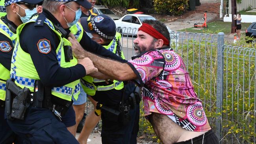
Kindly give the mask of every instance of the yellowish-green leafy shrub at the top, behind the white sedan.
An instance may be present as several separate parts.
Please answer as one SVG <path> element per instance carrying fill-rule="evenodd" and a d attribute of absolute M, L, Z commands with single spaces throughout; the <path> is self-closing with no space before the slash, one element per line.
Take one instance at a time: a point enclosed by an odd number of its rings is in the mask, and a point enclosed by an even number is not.
<path fill-rule="evenodd" d="M 158 13 L 181 15 L 188 7 L 189 0 L 154 0 L 154 9 Z"/>

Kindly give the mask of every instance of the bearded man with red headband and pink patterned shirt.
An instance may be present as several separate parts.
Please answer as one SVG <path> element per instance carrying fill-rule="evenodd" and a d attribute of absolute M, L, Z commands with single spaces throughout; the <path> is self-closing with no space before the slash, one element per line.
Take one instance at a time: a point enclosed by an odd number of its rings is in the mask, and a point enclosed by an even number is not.
<path fill-rule="evenodd" d="M 137 56 L 127 63 L 98 57 L 69 40 L 76 57 L 89 57 L 105 78 L 134 80 L 141 87 L 145 116 L 163 144 L 219 144 L 163 23 L 144 21 L 134 40 Z"/>

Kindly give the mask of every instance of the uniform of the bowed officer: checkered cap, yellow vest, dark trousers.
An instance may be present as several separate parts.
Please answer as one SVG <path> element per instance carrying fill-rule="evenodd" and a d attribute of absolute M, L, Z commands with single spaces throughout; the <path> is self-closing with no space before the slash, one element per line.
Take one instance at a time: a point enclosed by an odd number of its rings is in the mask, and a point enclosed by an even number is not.
<path fill-rule="evenodd" d="M 116 32 L 115 23 L 106 15 L 97 15 L 96 17 L 81 18 L 80 20 L 84 30 L 89 37 L 93 37 L 91 33 L 97 33 L 105 39 L 113 39 L 109 44 L 105 44 L 104 48 L 125 59 L 120 44 L 121 34 Z M 84 91 L 91 96 L 99 104 L 105 105 L 110 109 L 119 111 L 120 102 L 122 101 L 124 92 L 124 83 L 114 80 L 108 81 L 85 76 L 81 79 Z M 134 87 L 134 85 L 126 85 L 126 87 Z M 127 88 L 129 93 L 129 89 Z M 124 96 L 127 100 L 128 96 Z M 102 118 L 102 144 L 136 144 L 139 123 L 139 105 L 134 109 L 130 109 L 130 122 L 121 124 L 118 119 L 112 118 L 109 112 L 101 109 Z M 134 126 L 137 127 L 134 127 Z"/>

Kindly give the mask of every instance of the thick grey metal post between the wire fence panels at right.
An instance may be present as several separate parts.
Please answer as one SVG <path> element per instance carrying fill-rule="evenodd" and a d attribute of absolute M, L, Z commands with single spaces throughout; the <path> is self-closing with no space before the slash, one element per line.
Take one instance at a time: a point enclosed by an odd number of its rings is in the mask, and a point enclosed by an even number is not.
<path fill-rule="evenodd" d="M 216 100 L 216 113 L 221 113 L 223 105 L 223 45 L 224 45 L 224 33 L 218 33 L 218 48 L 217 48 L 217 100 Z M 219 140 L 222 138 L 222 114 L 216 118 L 216 135 Z M 221 142 L 222 143 L 222 142 Z"/>

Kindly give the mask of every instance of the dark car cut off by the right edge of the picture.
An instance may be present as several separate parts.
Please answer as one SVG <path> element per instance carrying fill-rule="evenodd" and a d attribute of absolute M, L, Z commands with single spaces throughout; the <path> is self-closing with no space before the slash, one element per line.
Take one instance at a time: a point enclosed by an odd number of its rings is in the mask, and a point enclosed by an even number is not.
<path fill-rule="evenodd" d="M 252 22 L 252 24 L 245 30 L 245 41 L 247 43 L 256 44 L 256 22 Z M 248 39 L 251 37 L 252 39 Z"/>

